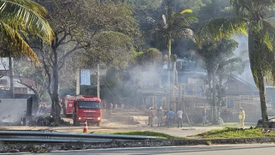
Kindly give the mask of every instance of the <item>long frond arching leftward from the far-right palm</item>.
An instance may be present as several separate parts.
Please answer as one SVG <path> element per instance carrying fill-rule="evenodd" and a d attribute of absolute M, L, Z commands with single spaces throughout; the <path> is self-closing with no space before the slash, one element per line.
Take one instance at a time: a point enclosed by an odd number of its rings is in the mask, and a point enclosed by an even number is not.
<path fill-rule="evenodd" d="M 246 18 L 216 18 L 209 20 L 197 32 L 197 44 L 200 45 L 201 38 L 217 41 L 221 38 L 231 37 L 234 34 L 247 35 L 248 22 L 249 20 Z"/>

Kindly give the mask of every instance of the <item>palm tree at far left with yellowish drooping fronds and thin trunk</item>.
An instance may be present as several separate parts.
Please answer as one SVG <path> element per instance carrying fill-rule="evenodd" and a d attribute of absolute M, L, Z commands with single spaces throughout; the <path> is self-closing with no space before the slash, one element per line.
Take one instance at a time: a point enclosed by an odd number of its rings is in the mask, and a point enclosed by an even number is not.
<path fill-rule="evenodd" d="M 30 0 L 0 0 L 0 42 L 6 46 L 2 56 L 9 57 L 11 92 L 13 92 L 12 56 L 25 55 L 37 62 L 38 58 L 32 48 L 22 37 L 23 33 L 37 35 L 51 42 L 53 31 L 47 20 L 47 10 Z"/>

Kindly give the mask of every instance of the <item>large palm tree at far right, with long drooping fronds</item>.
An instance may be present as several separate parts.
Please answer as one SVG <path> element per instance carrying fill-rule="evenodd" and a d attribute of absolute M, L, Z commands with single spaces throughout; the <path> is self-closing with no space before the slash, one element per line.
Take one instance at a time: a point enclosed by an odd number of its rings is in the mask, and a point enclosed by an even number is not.
<path fill-rule="evenodd" d="M 209 20 L 197 33 L 197 44 L 200 38 L 219 40 L 234 34 L 248 35 L 250 68 L 259 89 L 263 128 L 267 125 L 267 105 L 264 92 L 264 77 L 274 81 L 274 37 L 275 24 L 269 13 L 274 8 L 274 0 L 228 0 L 236 17 L 216 18 Z"/>

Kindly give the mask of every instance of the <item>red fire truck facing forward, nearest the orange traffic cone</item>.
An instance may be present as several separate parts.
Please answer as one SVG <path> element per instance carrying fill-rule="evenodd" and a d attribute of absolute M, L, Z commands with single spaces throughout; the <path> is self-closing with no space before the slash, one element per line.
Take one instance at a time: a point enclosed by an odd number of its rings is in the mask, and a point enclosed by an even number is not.
<path fill-rule="evenodd" d="M 87 120 L 87 123 L 99 123 L 102 120 L 101 100 L 96 96 L 75 97 L 73 104 L 73 125 L 79 125 Z"/>

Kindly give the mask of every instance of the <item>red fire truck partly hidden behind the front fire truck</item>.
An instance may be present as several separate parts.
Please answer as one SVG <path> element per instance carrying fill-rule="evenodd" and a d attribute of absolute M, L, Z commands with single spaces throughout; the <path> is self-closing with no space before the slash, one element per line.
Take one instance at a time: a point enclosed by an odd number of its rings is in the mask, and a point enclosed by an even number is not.
<path fill-rule="evenodd" d="M 75 97 L 71 95 L 67 95 L 62 99 L 61 103 L 64 116 L 68 117 L 73 115 L 73 101 L 75 101 Z"/>

